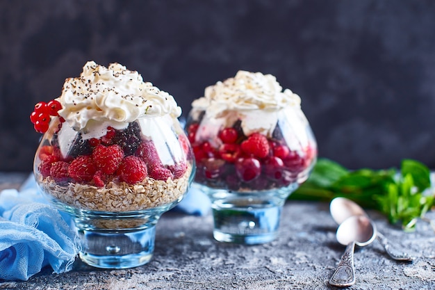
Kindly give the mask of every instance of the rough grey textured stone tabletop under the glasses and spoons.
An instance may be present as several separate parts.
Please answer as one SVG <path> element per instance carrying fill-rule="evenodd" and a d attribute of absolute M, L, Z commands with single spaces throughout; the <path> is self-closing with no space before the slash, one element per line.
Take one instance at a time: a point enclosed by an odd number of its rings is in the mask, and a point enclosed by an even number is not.
<path fill-rule="evenodd" d="M 405 233 L 369 211 L 380 232 L 409 249 L 412 263 L 388 258 L 378 241 L 356 248 L 356 284 L 350 289 L 434 289 L 435 233 L 419 221 Z M 428 218 L 435 220 L 435 213 Z M 345 248 L 335 239 L 329 204 L 287 202 L 279 239 L 263 245 L 213 240 L 213 220 L 169 212 L 157 225 L 153 259 L 126 270 L 100 270 L 77 259 L 69 273 L 50 268 L 26 282 L 0 282 L 0 289 L 334 289 L 329 277 Z"/>

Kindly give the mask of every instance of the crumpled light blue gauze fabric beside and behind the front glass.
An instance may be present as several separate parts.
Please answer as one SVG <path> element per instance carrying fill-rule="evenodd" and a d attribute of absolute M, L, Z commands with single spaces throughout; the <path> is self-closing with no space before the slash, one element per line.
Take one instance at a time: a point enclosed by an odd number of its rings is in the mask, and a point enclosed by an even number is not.
<path fill-rule="evenodd" d="M 208 198 L 192 185 L 174 211 L 204 216 Z M 0 279 L 28 280 L 44 266 L 70 271 L 80 250 L 72 218 L 48 204 L 33 175 L 16 189 L 0 192 Z"/>

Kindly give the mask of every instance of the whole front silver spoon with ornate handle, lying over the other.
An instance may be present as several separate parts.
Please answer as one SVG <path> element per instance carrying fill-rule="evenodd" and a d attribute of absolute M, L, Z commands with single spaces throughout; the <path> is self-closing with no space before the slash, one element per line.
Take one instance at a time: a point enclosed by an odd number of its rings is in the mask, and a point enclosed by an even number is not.
<path fill-rule="evenodd" d="M 376 226 L 366 216 L 351 216 L 338 226 L 337 241 L 347 246 L 329 284 L 336 287 L 347 287 L 355 283 L 355 244 L 361 247 L 368 245 L 375 240 L 375 236 Z"/>

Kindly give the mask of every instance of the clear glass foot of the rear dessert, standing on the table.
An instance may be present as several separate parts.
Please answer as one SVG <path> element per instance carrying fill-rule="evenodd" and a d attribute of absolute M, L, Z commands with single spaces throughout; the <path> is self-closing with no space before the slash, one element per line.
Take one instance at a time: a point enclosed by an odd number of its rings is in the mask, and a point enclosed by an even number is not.
<path fill-rule="evenodd" d="M 213 207 L 213 237 L 217 241 L 254 245 L 278 236 L 281 208 Z"/>

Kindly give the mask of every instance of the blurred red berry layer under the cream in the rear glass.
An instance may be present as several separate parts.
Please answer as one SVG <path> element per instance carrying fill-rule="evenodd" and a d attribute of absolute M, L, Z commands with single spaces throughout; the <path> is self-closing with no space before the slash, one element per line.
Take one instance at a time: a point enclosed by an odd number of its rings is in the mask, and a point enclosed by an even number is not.
<path fill-rule="evenodd" d="M 270 138 L 258 132 L 245 136 L 239 120 L 220 129 L 215 140 L 202 138 L 204 131 L 199 134 L 198 128 L 194 121 L 186 129 L 197 165 L 195 182 L 211 188 L 265 191 L 289 186 L 315 158 L 311 145 L 291 150 L 279 126 Z"/>

